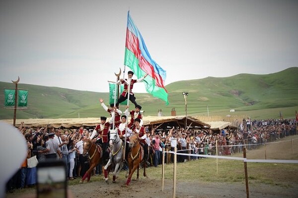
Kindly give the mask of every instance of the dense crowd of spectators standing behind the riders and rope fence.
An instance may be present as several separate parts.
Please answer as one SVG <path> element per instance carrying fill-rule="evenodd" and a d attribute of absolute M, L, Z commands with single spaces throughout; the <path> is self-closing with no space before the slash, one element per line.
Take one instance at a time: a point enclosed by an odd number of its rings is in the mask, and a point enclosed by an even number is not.
<path fill-rule="evenodd" d="M 247 122 L 247 120 L 249 120 Z M 248 124 L 247 124 L 248 123 Z M 154 126 L 155 127 L 155 126 Z M 183 128 L 150 129 L 145 126 L 149 139 L 149 166 L 157 167 L 161 164 L 162 148 L 191 154 L 229 155 L 242 150 L 255 149 L 257 145 L 273 142 L 286 136 L 297 135 L 297 121 L 295 119 L 250 120 L 243 119 L 236 128 L 213 131 L 211 129 L 185 130 Z M 89 138 L 91 131 L 83 129 L 64 130 L 48 128 L 28 128 L 21 123 L 19 131 L 27 141 L 27 158 L 37 156 L 38 161 L 46 161 L 54 156 L 64 160 L 67 164 L 69 180 L 81 177 L 88 169 L 88 161 L 82 156 L 82 140 Z M 49 145 L 55 143 L 57 148 Z M 240 147 L 239 147 L 240 145 Z M 197 160 L 201 157 L 178 155 L 177 162 Z M 165 154 L 165 163 L 173 163 L 173 155 Z M 25 159 L 18 172 L 6 184 L 6 189 L 31 187 L 36 184 L 36 167 L 28 168 Z M 94 170 L 94 174 L 101 174 L 101 165 Z"/>

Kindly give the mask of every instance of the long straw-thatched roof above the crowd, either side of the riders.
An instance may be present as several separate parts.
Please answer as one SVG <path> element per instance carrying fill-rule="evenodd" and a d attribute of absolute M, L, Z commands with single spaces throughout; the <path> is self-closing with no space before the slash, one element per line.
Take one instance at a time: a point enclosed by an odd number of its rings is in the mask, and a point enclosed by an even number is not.
<path fill-rule="evenodd" d="M 109 119 L 109 118 L 108 118 Z M 108 120 L 107 119 L 107 120 Z M 144 116 L 144 125 L 160 125 L 159 128 L 166 127 L 183 127 L 185 126 L 185 120 L 187 126 L 190 128 L 210 128 L 210 125 L 204 123 L 192 116 Z M 13 120 L 0 120 L 9 124 L 13 124 Z M 15 126 L 19 127 L 21 122 L 24 122 L 25 127 L 55 127 L 55 128 L 78 128 L 81 125 L 85 127 L 95 127 L 100 123 L 99 118 L 59 118 L 59 119 L 17 119 Z"/>

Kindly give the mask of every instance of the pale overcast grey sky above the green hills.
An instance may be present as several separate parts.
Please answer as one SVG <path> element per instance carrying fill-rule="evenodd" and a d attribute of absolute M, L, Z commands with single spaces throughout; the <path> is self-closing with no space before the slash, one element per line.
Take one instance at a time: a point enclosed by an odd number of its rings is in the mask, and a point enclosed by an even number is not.
<path fill-rule="evenodd" d="M 298 66 L 297 0 L 0 0 L 0 81 L 109 92 L 128 10 L 165 85 Z"/>

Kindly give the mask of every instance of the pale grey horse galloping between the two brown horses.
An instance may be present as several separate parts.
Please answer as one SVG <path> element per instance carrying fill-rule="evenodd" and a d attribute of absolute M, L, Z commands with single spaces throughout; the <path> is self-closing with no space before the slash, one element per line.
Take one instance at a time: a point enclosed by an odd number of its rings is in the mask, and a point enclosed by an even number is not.
<path fill-rule="evenodd" d="M 110 152 L 110 159 L 108 163 L 104 166 L 104 180 L 108 182 L 108 168 L 111 164 L 114 165 L 113 171 L 113 183 L 115 183 L 116 178 L 123 167 L 122 159 L 123 159 L 123 144 L 122 140 L 120 139 L 117 130 L 110 129 L 110 147 L 112 151 Z"/>

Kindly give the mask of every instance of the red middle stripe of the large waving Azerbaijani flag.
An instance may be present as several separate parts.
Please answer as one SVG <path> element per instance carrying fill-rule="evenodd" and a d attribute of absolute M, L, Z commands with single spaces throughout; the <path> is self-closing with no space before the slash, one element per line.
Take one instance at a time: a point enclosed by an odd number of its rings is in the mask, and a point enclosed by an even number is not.
<path fill-rule="evenodd" d="M 139 39 L 127 28 L 125 47 L 132 51 L 135 54 L 135 56 L 139 59 L 140 68 L 146 73 L 148 73 L 149 76 L 151 76 L 155 80 L 155 84 L 158 87 L 162 87 L 166 91 L 166 89 L 164 88 L 163 79 L 159 74 L 156 74 L 154 72 L 153 66 L 142 56 L 142 52 L 139 46 Z"/>

